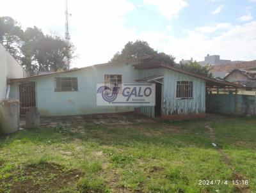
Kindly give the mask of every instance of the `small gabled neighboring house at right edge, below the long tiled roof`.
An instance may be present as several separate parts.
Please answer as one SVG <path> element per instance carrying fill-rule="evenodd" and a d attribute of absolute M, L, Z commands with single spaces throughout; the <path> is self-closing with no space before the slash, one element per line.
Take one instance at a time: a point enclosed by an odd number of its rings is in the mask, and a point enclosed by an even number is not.
<path fill-rule="evenodd" d="M 253 91 L 255 95 L 256 91 L 256 72 L 246 71 L 241 69 L 234 69 L 223 78 L 225 81 L 239 84 L 242 87 L 239 88 L 239 92 Z"/>

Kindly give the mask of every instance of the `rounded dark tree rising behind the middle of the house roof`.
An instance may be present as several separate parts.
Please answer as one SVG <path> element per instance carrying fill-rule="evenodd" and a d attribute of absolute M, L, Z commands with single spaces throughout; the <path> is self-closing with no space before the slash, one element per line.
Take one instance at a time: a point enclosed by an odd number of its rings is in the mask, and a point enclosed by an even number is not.
<path fill-rule="evenodd" d="M 143 56 L 154 56 L 158 61 L 174 65 L 174 57 L 165 54 L 164 52 L 157 52 L 145 41 L 136 40 L 136 42 L 128 42 L 125 44 L 122 52 L 116 52 L 111 61 L 120 61 L 122 59 L 135 59 Z"/>

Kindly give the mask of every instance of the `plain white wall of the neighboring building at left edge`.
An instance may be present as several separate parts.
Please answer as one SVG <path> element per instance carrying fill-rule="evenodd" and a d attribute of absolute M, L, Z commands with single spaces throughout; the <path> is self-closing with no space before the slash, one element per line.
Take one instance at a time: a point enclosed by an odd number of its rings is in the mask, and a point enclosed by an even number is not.
<path fill-rule="evenodd" d="M 0 43 L 0 101 L 8 98 L 8 79 L 26 77 L 26 71 Z"/>

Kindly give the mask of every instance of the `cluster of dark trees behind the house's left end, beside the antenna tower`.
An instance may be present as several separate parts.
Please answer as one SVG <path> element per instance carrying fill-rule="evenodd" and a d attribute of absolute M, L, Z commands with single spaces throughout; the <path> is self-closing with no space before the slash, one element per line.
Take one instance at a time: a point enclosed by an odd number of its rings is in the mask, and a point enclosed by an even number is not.
<path fill-rule="evenodd" d="M 0 42 L 31 75 L 67 70 L 67 58 L 74 57 L 74 46 L 59 36 L 44 35 L 36 26 L 23 31 L 11 17 L 0 17 Z"/>

